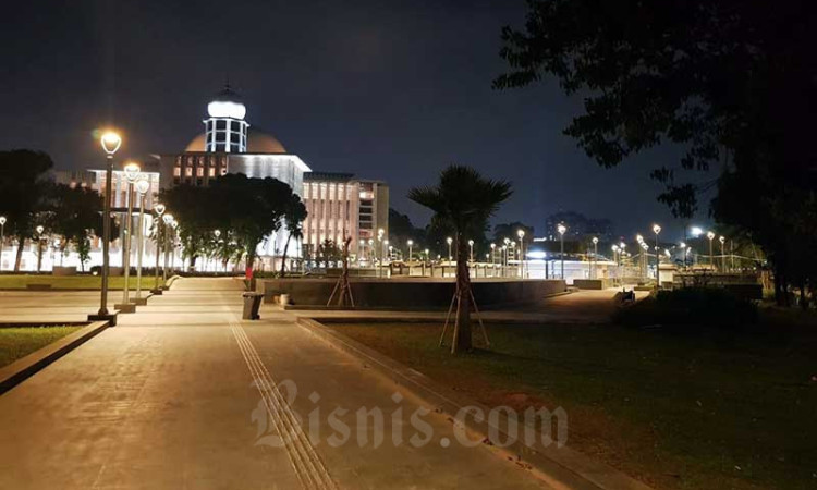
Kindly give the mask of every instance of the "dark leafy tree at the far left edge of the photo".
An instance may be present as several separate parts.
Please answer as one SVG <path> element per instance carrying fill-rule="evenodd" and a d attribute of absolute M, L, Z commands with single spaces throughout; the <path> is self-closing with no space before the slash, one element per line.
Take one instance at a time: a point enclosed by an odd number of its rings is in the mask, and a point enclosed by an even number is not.
<path fill-rule="evenodd" d="M 35 217 L 46 206 L 52 167 L 51 157 L 44 151 L 0 151 L 0 212 L 8 218 L 7 235 L 17 240 L 14 272 L 20 271 L 26 238 L 35 237 Z"/>

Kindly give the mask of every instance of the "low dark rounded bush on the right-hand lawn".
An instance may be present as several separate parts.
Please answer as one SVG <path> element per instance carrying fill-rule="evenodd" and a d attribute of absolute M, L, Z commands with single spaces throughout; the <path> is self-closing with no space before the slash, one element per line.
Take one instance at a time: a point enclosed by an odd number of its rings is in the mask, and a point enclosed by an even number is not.
<path fill-rule="evenodd" d="M 735 329 L 757 322 L 757 306 L 727 290 L 684 287 L 659 291 L 629 307 L 620 308 L 613 321 L 644 327 L 653 324 Z"/>

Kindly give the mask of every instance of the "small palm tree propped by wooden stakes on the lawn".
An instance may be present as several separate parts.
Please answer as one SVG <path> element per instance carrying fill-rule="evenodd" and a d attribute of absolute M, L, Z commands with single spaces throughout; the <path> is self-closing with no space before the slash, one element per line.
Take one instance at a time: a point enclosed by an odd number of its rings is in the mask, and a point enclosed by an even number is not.
<path fill-rule="evenodd" d="M 456 236 L 456 319 L 451 353 L 467 351 L 471 341 L 471 277 L 468 238 L 483 236 L 488 219 L 513 192 L 507 181 L 483 177 L 470 167 L 450 166 L 434 187 L 415 187 L 408 198 L 434 211 L 431 221 Z"/>

